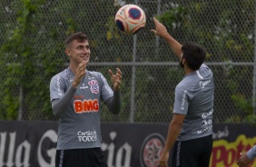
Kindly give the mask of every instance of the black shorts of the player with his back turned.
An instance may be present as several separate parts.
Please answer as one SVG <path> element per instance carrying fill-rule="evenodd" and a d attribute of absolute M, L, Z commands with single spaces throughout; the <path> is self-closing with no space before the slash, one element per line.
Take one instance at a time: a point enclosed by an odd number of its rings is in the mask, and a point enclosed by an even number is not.
<path fill-rule="evenodd" d="M 176 141 L 170 151 L 169 167 L 208 167 L 212 142 L 212 135 L 189 141 Z"/>

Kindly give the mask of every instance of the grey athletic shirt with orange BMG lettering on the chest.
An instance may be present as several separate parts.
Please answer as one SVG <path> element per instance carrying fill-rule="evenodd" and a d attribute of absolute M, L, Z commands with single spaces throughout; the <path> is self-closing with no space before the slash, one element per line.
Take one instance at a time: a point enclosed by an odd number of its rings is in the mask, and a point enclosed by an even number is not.
<path fill-rule="evenodd" d="M 50 83 L 51 101 L 60 99 L 74 81 L 70 68 L 54 75 Z M 103 74 L 86 70 L 73 99 L 58 121 L 57 150 L 101 147 L 100 100 L 113 97 Z"/>

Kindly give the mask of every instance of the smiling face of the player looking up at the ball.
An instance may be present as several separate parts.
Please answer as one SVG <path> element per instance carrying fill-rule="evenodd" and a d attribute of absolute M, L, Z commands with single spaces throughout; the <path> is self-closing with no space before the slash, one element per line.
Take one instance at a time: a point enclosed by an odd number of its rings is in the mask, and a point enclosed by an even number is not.
<path fill-rule="evenodd" d="M 68 55 L 70 56 L 70 61 L 75 64 L 80 64 L 83 61 L 89 62 L 90 59 L 90 45 L 87 40 L 82 43 L 79 43 L 77 40 L 74 40 L 70 46 L 67 48 Z"/>

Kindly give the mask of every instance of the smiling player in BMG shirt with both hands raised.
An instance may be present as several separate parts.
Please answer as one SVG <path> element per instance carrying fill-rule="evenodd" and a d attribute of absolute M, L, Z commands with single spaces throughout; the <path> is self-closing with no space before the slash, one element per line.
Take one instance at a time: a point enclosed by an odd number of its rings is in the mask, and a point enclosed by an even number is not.
<path fill-rule="evenodd" d="M 53 112 L 59 117 L 55 166 L 107 167 L 101 150 L 100 101 L 110 112 L 120 112 L 122 72 L 108 71 L 112 90 L 103 74 L 86 69 L 91 50 L 85 34 L 70 35 L 65 47 L 69 66 L 50 83 Z"/>

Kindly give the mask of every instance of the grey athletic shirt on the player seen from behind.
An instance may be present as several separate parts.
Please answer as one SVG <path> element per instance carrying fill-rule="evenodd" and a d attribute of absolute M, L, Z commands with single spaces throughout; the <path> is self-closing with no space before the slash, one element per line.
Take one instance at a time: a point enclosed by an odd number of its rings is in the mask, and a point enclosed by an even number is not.
<path fill-rule="evenodd" d="M 202 64 L 186 74 L 175 88 L 173 113 L 185 115 L 177 141 L 187 141 L 212 134 L 214 83 L 212 70 Z"/>

